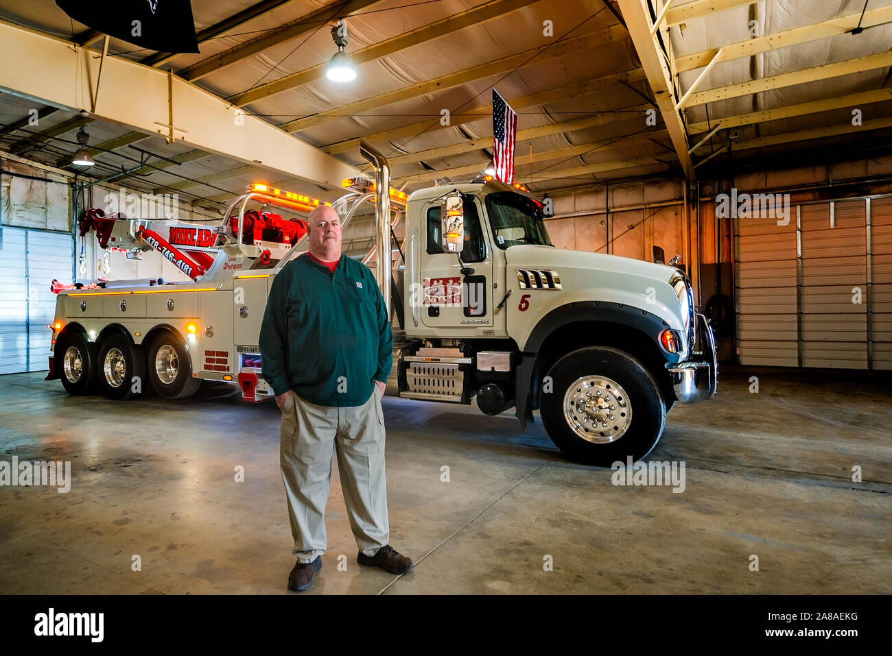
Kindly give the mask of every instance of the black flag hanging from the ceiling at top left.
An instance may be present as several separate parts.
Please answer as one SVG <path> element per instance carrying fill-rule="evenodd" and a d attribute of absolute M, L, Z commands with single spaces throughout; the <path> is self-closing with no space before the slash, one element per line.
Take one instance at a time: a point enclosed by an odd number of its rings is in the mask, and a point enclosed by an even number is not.
<path fill-rule="evenodd" d="M 75 21 L 146 50 L 197 53 L 189 0 L 56 0 Z"/>

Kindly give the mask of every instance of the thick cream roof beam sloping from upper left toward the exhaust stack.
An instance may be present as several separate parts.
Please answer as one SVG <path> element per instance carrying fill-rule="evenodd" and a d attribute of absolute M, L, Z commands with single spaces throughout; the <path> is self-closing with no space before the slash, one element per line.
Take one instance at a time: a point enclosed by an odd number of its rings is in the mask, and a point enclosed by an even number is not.
<path fill-rule="evenodd" d="M 340 189 L 343 178 L 358 173 L 218 96 L 136 61 L 106 58 L 97 95 L 100 61 L 94 51 L 4 22 L 0 22 L 0 61 L 15 61 L 14 66 L 0 67 L 0 88 L 75 111 L 86 111 L 97 99 L 89 119 L 148 135 L 172 134 L 177 143 L 199 151 L 328 189 Z M 138 102 L 121 102 L 132 101 L 134 94 Z"/>

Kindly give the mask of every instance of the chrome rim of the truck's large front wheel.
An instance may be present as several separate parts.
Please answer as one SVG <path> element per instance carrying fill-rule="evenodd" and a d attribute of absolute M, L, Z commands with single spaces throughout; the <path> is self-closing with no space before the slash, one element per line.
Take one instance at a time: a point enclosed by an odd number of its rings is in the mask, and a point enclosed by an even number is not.
<path fill-rule="evenodd" d="M 609 444 L 622 438 L 632 425 L 632 404 L 616 381 L 582 376 L 564 394 L 564 419 L 585 441 Z"/>

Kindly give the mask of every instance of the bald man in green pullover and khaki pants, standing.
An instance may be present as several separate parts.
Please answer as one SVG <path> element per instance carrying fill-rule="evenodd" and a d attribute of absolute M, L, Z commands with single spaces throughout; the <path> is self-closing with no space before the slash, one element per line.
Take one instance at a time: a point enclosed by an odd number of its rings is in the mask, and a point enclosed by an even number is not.
<path fill-rule="evenodd" d="M 381 398 L 393 336 L 368 267 L 341 253 L 341 220 L 329 206 L 309 217 L 309 252 L 276 275 L 260 328 L 263 377 L 282 411 L 280 463 L 301 592 L 322 568 L 332 453 L 337 453 L 357 561 L 392 574 L 412 569 L 388 544 Z"/>

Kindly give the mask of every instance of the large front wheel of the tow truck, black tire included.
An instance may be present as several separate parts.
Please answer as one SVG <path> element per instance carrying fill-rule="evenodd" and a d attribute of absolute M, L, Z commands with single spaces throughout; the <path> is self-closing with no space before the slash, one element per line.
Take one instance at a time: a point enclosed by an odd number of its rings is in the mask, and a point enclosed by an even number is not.
<path fill-rule="evenodd" d="M 549 370 L 542 423 L 551 441 L 577 462 L 609 467 L 637 462 L 663 435 L 665 402 L 638 360 L 616 348 L 580 348 Z M 595 421 L 597 420 L 597 421 Z"/>

